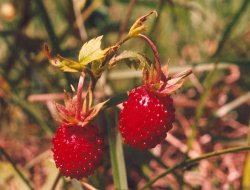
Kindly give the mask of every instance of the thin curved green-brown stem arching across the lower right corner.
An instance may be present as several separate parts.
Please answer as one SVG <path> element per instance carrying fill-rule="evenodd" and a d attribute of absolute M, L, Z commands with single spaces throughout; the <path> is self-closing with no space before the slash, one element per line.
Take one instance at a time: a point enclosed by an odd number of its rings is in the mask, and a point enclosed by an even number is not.
<path fill-rule="evenodd" d="M 211 157 L 215 157 L 215 156 L 219 156 L 219 155 L 226 154 L 226 153 L 231 153 L 231 152 L 244 151 L 244 150 L 250 150 L 250 146 L 227 148 L 227 149 L 223 149 L 223 150 L 219 150 L 219 151 L 215 151 L 215 152 L 210 152 L 210 153 L 204 154 L 204 155 L 202 155 L 200 157 L 197 157 L 197 158 L 184 160 L 181 163 L 175 165 L 174 167 L 167 169 L 165 172 L 158 175 L 153 180 L 149 181 L 141 190 L 144 190 L 144 189 L 147 189 L 147 188 L 151 187 L 157 180 L 165 177 L 167 174 L 173 172 L 174 170 L 184 168 L 184 167 L 186 167 L 186 166 L 188 166 L 190 164 L 194 164 L 194 163 L 196 163 L 196 162 L 198 162 L 200 160 L 204 160 L 204 159 L 207 159 L 207 158 L 211 158 Z"/>

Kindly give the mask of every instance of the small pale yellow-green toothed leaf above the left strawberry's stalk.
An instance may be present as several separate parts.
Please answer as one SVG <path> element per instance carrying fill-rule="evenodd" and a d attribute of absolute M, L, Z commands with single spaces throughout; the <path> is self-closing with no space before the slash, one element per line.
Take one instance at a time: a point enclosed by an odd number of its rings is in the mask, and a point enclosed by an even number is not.
<path fill-rule="evenodd" d="M 83 44 L 79 52 L 79 62 L 82 66 L 100 60 L 105 56 L 109 48 L 101 49 L 102 37 L 103 36 L 99 36 Z"/>

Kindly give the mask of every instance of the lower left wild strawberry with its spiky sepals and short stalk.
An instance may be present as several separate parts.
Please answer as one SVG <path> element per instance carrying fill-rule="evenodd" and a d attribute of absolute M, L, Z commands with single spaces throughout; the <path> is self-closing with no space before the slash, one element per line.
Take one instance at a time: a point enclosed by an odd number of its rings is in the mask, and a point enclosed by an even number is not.
<path fill-rule="evenodd" d="M 55 104 L 61 125 L 52 140 L 56 167 L 64 176 L 76 179 L 93 173 L 104 152 L 104 140 L 97 126 L 90 124 L 104 103 L 90 109 L 92 96 L 87 95 L 85 102 L 82 99 L 83 80 L 81 76 L 76 96 L 65 92 L 65 107 Z"/>

